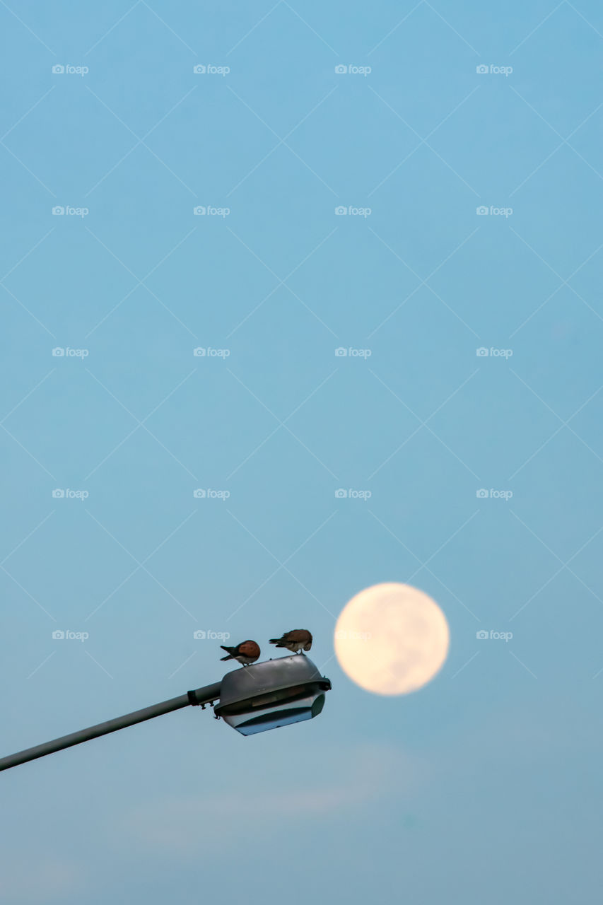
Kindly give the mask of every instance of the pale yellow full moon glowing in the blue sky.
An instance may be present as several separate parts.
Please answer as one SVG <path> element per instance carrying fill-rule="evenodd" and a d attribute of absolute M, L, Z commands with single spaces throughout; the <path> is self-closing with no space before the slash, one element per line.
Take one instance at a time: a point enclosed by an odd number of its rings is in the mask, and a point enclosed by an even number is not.
<path fill-rule="evenodd" d="M 388 583 L 360 591 L 335 626 L 335 653 L 352 681 L 376 694 L 407 694 L 443 666 L 450 633 L 445 615 L 410 585 Z"/>

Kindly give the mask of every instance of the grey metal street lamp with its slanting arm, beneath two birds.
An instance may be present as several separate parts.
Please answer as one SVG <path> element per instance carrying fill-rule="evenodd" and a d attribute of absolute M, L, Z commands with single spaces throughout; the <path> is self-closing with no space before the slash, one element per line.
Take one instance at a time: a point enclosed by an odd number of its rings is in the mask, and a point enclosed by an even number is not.
<path fill-rule="evenodd" d="M 188 705 L 206 709 L 214 707 L 216 718 L 222 717 L 242 735 L 254 735 L 267 729 L 289 726 L 302 719 L 317 717 L 324 706 L 324 695 L 330 690 L 330 680 L 304 654 L 297 653 L 277 660 L 254 663 L 240 670 L 227 672 L 222 681 L 196 691 L 187 691 L 177 698 L 134 710 L 123 717 L 108 719 L 88 729 L 55 738 L 35 748 L 26 748 L 8 757 L 0 757 L 0 770 L 16 767 L 28 760 L 71 748 L 82 741 L 108 735 L 146 719 L 160 717 Z M 215 701 L 217 703 L 215 703 Z"/>

